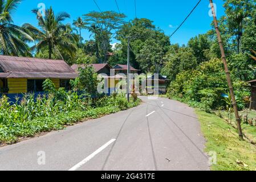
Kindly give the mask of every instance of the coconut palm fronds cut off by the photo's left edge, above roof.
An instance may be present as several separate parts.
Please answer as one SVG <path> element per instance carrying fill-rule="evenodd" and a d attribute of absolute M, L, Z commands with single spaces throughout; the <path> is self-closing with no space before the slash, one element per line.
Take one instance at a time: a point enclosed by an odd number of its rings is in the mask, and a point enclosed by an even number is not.
<path fill-rule="evenodd" d="M 13 24 L 11 13 L 17 9 L 21 0 L 0 0 L 0 54 L 29 55 L 26 42 L 32 42 L 32 37 L 25 28 Z"/>

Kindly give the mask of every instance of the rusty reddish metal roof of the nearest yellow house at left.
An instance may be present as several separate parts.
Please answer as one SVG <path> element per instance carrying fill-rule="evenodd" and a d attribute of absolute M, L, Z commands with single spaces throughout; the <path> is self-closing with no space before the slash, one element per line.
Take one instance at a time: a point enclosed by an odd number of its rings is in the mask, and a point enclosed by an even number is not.
<path fill-rule="evenodd" d="M 0 55 L 2 78 L 76 78 L 78 75 L 64 60 Z"/>

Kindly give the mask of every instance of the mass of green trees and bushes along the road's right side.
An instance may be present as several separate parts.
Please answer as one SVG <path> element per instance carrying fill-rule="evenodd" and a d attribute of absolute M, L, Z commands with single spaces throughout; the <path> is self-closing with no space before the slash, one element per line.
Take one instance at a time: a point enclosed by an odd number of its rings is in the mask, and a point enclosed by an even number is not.
<path fill-rule="evenodd" d="M 250 53 L 256 49 L 253 28 L 256 23 L 255 1 L 226 0 L 224 7 L 226 15 L 221 17 L 219 28 L 238 108 L 241 110 L 246 106 L 244 98 L 250 96 L 246 81 L 256 78 L 256 62 Z M 206 111 L 231 111 L 229 88 L 220 57 L 214 27 L 206 34 L 190 39 L 188 46 L 170 46 L 161 71 L 170 81 L 168 96 Z"/>

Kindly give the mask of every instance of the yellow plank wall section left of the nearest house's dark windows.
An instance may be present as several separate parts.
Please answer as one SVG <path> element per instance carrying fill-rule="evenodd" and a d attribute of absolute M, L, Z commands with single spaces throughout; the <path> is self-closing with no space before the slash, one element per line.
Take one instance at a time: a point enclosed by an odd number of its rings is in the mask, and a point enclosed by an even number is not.
<path fill-rule="evenodd" d="M 26 93 L 27 78 L 8 78 L 8 93 Z"/>

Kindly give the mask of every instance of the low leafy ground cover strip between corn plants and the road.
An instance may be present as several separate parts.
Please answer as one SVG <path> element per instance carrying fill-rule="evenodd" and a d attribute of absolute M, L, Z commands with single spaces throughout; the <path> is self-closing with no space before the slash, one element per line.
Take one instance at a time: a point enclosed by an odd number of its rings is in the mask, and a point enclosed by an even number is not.
<path fill-rule="evenodd" d="M 108 105 L 90 108 L 88 110 L 60 112 L 54 116 L 51 115 L 51 117 L 39 117 L 26 122 L 9 122 L 6 125 L 0 123 L 0 146 L 17 143 L 24 138 L 34 137 L 39 133 L 62 130 L 67 126 L 87 121 L 88 119 L 100 118 L 104 115 L 117 113 L 120 110 L 138 106 L 140 102 L 141 100 L 137 99 L 136 101 L 127 102 L 127 105 L 119 103 L 116 106 Z"/>

